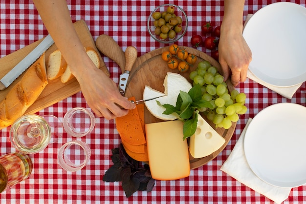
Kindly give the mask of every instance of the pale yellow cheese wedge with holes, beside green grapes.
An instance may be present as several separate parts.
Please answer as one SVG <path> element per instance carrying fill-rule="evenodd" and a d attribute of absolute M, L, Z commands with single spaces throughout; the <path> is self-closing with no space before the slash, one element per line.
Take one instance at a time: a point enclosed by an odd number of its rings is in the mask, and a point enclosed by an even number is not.
<path fill-rule="evenodd" d="M 206 157 L 217 151 L 224 143 L 225 139 L 198 114 L 196 133 L 189 138 L 190 154 L 194 158 Z"/>

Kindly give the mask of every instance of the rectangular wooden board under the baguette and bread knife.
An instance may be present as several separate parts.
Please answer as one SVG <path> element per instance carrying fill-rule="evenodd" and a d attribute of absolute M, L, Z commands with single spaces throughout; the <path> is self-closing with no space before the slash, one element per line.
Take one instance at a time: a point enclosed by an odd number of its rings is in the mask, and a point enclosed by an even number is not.
<path fill-rule="evenodd" d="M 100 52 L 97 50 L 95 46 L 95 42 L 89 32 L 88 26 L 84 20 L 79 20 L 74 23 L 75 30 L 83 43 L 84 47 L 91 47 L 96 50 L 97 54 L 100 58 L 100 69 L 105 72 L 106 75 L 109 76 L 109 70 L 107 69 Z M 23 47 L 16 52 L 13 52 L 3 58 L 0 59 L 0 79 L 9 72 L 19 61 L 21 61 L 29 52 L 31 52 L 43 39 L 33 42 L 32 44 Z M 57 49 L 57 46 L 53 44 L 46 52 L 45 52 L 45 60 L 47 61 L 48 56 Z M 71 50 L 73 52 L 73 50 Z M 24 73 L 23 73 L 24 74 Z M 5 90 L 0 91 L 0 101 L 2 101 L 6 94 L 10 91 L 10 89 L 21 80 L 23 74 L 16 79 L 9 87 Z M 69 82 L 62 83 L 60 78 L 55 80 L 49 80 L 48 85 L 44 88 L 44 91 L 39 96 L 36 102 L 34 102 L 25 112 L 25 114 L 34 114 L 54 103 L 60 102 L 63 99 L 79 92 L 81 90 L 80 84 L 74 78 Z"/>

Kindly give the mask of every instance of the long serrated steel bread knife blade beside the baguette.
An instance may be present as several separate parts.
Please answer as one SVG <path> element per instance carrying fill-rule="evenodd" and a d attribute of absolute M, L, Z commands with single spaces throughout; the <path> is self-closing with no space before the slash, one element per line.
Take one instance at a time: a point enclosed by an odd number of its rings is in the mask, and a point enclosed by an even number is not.
<path fill-rule="evenodd" d="M 0 90 L 6 89 L 14 82 L 27 68 L 29 68 L 43 53 L 54 43 L 50 34 L 41 41 L 25 58 L 0 79 Z"/>

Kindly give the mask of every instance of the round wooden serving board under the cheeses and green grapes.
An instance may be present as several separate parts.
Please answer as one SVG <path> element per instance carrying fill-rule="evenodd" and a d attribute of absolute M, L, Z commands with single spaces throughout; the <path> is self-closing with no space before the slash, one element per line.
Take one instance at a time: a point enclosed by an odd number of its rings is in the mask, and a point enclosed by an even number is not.
<path fill-rule="evenodd" d="M 207 54 L 190 47 L 186 47 L 185 49 L 188 51 L 188 53 L 197 55 L 197 62 L 194 64 L 194 66 L 191 66 L 190 70 L 185 73 L 181 73 L 177 69 L 175 70 L 170 69 L 168 68 L 167 62 L 161 59 L 161 54 L 168 49 L 169 47 L 159 48 L 137 58 L 130 73 L 125 93 L 126 97 L 134 96 L 136 100 L 143 99 L 142 95 L 145 85 L 149 85 L 155 90 L 164 92 L 163 82 L 168 72 L 180 73 L 189 82 L 192 83 L 192 81 L 189 79 L 189 74 L 191 71 L 197 69 L 197 63 L 200 61 L 204 60 L 209 61 L 213 66 L 218 68 L 219 72 L 221 70 L 219 62 L 217 62 Z M 234 89 L 234 86 L 230 81 L 227 81 L 227 85 L 230 91 Z M 203 117 L 205 119 L 205 116 Z M 149 112 L 149 110 L 145 108 L 145 123 L 153 123 L 153 122 L 162 122 L 162 120 L 155 118 Z M 215 127 L 215 124 L 213 124 L 210 121 L 208 122 L 211 124 L 212 127 Z M 202 166 L 208 163 L 209 161 L 213 160 L 215 157 L 217 157 L 218 154 L 225 148 L 227 143 L 232 138 L 235 128 L 236 128 L 236 122 L 233 123 L 233 125 L 228 130 L 225 130 L 224 128 L 215 128 L 216 131 L 225 139 L 225 143 L 217 151 L 203 158 L 195 159 L 189 154 L 190 168 L 194 169 L 199 166 Z"/>

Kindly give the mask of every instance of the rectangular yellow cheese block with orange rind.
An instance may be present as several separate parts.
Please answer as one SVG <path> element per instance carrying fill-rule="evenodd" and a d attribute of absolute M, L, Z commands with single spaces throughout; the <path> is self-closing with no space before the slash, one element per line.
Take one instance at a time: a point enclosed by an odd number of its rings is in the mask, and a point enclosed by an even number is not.
<path fill-rule="evenodd" d="M 152 178 L 167 181 L 188 177 L 190 164 L 183 122 L 149 123 L 145 130 Z"/>

